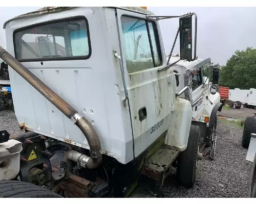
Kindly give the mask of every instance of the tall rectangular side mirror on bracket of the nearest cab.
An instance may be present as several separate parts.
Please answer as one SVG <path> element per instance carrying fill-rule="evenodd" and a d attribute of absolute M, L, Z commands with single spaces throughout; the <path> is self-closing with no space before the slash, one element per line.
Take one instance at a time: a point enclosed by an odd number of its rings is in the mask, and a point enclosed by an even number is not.
<path fill-rule="evenodd" d="M 195 47 L 192 48 L 192 16 L 195 15 Z M 197 48 L 197 14 L 191 13 L 180 18 L 180 59 L 194 61 Z"/>

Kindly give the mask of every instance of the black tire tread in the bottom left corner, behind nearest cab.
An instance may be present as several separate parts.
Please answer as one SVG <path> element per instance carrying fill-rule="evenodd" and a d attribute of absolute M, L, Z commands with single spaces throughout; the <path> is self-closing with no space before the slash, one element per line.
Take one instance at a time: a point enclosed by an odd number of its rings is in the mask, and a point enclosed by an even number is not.
<path fill-rule="evenodd" d="M 0 198 L 61 198 L 45 188 L 19 181 L 1 181 Z"/>

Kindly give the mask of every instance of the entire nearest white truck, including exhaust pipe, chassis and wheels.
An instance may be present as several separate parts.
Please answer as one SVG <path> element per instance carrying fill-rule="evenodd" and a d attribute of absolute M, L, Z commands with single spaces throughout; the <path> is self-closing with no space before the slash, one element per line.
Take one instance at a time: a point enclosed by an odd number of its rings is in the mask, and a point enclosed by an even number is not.
<path fill-rule="evenodd" d="M 25 132 L 0 133 L 0 189 L 10 189 L 0 196 L 160 197 L 173 167 L 181 185 L 195 184 L 199 146 L 215 139 L 205 135 L 215 133 L 222 105 L 216 83 L 193 89 L 186 81 L 194 66 L 177 90 L 177 62 L 166 61 L 158 24 L 174 17 L 177 61 L 193 63 L 195 13 L 46 7 L 5 22 L 8 52 L 0 47 L 0 57 Z M 211 105 L 201 113 L 204 98 Z"/>

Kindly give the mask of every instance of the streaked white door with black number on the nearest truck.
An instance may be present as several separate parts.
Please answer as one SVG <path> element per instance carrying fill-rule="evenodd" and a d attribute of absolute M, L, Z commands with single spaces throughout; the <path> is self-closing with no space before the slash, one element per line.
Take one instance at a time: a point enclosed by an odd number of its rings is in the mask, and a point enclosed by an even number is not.
<path fill-rule="evenodd" d="M 168 129 L 176 81 L 172 69 L 158 72 L 166 60 L 156 21 L 145 14 L 116 12 L 137 157 Z"/>

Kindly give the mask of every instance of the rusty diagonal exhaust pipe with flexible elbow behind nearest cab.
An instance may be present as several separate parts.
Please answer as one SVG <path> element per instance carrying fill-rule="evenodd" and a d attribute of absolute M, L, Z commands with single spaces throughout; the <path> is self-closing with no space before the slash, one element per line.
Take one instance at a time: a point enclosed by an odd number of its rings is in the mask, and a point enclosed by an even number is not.
<path fill-rule="evenodd" d="M 12 57 L 2 46 L 0 46 L 0 58 L 2 58 L 12 69 L 14 69 L 23 79 L 33 86 L 39 93 L 45 96 L 57 109 L 71 119 L 82 131 L 90 146 L 90 158 L 87 160 L 88 168 L 96 168 L 102 162 L 100 152 L 101 145 L 99 137 L 92 124 L 81 116 L 65 100 L 58 96 L 46 84 L 39 80 L 31 71 L 23 66 L 18 60 Z"/>

